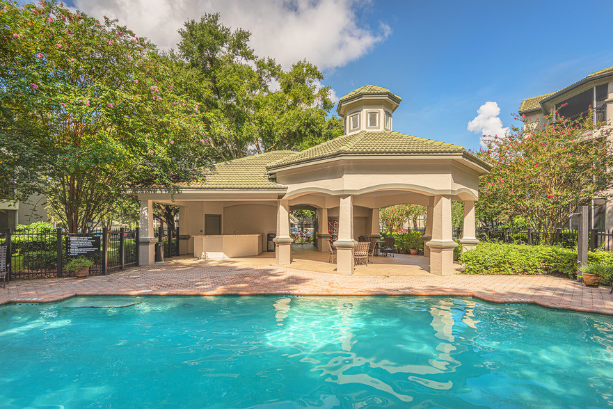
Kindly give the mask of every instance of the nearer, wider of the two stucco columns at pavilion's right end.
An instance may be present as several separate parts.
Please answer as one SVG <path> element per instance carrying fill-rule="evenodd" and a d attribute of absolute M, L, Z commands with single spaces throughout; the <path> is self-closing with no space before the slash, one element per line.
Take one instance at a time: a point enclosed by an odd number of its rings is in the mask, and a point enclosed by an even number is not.
<path fill-rule="evenodd" d="M 432 239 L 426 244 L 430 247 L 430 273 L 453 274 L 454 248 L 458 243 L 452 236 L 452 201 L 449 196 L 434 196 Z"/>

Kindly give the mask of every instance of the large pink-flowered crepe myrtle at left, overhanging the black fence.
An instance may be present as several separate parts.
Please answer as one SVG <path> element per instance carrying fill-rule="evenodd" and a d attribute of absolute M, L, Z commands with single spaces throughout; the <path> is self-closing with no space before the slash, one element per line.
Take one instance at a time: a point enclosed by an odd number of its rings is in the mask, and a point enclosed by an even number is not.
<path fill-rule="evenodd" d="M 0 104 L 35 152 L 49 207 L 70 232 L 143 181 L 190 177 L 207 143 L 198 103 L 173 92 L 145 38 L 62 3 L 0 2 Z"/>

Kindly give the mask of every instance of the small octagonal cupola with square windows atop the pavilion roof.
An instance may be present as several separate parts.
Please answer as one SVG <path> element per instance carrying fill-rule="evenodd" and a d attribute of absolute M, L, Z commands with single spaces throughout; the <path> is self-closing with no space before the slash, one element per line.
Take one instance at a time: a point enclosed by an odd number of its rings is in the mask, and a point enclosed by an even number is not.
<path fill-rule="evenodd" d="M 387 88 L 367 85 L 338 101 L 337 113 L 344 119 L 344 134 L 360 131 L 392 131 L 392 113 L 401 98 Z"/>

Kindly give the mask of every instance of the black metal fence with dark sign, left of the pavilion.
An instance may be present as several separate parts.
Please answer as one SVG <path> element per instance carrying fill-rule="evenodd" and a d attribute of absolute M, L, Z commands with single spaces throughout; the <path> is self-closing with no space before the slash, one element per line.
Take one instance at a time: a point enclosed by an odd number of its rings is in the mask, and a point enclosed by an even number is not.
<path fill-rule="evenodd" d="M 122 270 L 138 265 L 138 245 L 138 228 L 105 227 L 89 233 L 67 233 L 62 229 L 0 232 L 0 246 L 7 249 L 4 266 L 8 280 L 74 275 L 66 265 L 76 257 L 86 257 L 94 263 L 89 268 L 91 275 Z"/>

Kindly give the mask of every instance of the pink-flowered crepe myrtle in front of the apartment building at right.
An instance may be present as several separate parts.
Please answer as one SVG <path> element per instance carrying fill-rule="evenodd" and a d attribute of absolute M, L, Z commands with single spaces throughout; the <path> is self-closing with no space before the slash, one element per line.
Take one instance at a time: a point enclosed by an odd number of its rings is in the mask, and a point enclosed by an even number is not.
<path fill-rule="evenodd" d="M 481 177 L 479 202 L 523 216 L 533 229 L 554 233 L 578 206 L 610 197 L 613 187 L 611 129 L 594 125 L 594 112 L 568 119 L 557 112 L 488 138 L 478 153 L 493 164 Z M 548 241 L 553 234 L 547 234 Z"/>

